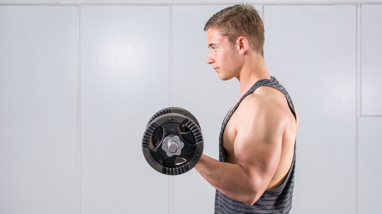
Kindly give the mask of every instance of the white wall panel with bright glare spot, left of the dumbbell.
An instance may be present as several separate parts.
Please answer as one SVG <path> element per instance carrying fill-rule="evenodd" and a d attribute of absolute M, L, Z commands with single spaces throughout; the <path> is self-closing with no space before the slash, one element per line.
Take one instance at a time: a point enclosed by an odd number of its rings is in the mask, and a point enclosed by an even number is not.
<path fill-rule="evenodd" d="M 149 15 L 148 15 L 149 14 Z M 169 102 L 169 7 L 81 7 L 81 213 L 168 213 L 142 136 Z"/>

